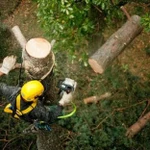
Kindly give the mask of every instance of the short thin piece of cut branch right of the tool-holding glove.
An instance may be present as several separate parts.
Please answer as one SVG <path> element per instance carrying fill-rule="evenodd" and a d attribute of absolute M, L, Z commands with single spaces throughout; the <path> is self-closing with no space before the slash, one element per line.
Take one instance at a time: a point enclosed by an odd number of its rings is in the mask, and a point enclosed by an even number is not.
<path fill-rule="evenodd" d="M 84 101 L 84 104 L 97 103 L 99 100 L 108 98 L 110 96 L 111 96 L 111 93 L 106 92 L 105 94 L 102 94 L 101 96 L 91 96 L 91 97 L 85 98 L 83 101 Z"/>

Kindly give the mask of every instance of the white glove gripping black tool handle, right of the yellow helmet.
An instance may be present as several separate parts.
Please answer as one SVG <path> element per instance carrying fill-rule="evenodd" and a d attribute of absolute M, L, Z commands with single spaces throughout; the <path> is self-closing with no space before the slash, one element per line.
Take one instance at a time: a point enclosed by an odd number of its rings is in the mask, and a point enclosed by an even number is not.
<path fill-rule="evenodd" d="M 72 101 L 76 86 L 77 82 L 70 78 L 65 78 L 65 80 L 59 84 L 60 95 L 62 96 L 59 101 L 61 106 L 65 106 Z"/>

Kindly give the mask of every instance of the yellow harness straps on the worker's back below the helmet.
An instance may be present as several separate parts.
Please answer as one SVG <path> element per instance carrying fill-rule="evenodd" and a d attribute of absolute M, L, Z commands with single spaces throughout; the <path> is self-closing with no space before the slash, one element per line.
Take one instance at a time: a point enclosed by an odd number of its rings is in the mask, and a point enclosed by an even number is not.
<path fill-rule="evenodd" d="M 31 110 L 33 110 L 36 105 L 37 105 L 37 102 L 36 101 L 33 101 L 26 109 L 24 110 L 21 110 L 21 95 L 19 94 L 16 98 L 16 104 L 15 104 L 15 108 L 12 107 L 11 103 L 9 103 L 5 109 L 4 109 L 4 112 L 6 113 L 10 113 L 12 114 L 12 116 L 16 119 L 19 119 L 21 116 L 29 113 Z"/>

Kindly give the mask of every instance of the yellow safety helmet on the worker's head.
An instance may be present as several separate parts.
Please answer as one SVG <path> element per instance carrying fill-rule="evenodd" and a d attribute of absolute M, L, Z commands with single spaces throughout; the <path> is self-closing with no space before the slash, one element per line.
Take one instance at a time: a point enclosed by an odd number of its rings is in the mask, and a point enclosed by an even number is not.
<path fill-rule="evenodd" d="M 21 96 L 27 102 L 36 101 L 38 96 L 44 92 L 44 86 L 37 80 L 32 80 L 23 85 Z"/>

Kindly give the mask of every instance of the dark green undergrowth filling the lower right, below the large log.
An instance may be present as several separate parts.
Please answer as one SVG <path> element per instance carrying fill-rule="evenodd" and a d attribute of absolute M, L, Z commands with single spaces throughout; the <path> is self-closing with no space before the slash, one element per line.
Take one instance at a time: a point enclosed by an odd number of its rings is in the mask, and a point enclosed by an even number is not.
<path fill-rule="evenodd" d="M 113 96 L 98 104 L 80 104 L 76 115 L 59 122 L 71 133 L 66 150 L 149 149 L 149 144 L 146 144 L 149 142 L 148 127 L 133 139 L 128 139 L 125 133 L 146 107 L 145 100 L 150 98 L 150 82 L 143 82 L 129 71 L 115 66 L 90 83 L 91 88 L 99 85 L 100 92 L 111 91 Z"/>

